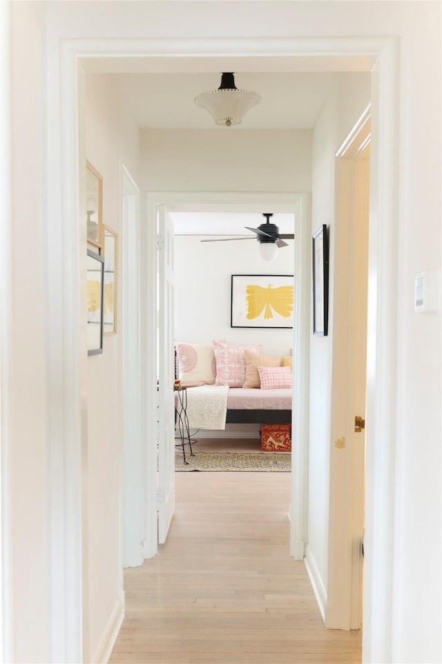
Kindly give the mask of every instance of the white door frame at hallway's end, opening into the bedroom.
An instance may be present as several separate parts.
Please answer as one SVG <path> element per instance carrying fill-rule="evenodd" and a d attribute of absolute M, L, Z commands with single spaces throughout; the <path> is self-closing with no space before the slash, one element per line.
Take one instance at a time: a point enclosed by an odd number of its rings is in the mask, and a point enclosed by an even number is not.
<path fill-rule="evenodd" d="M 273 212 L 293 212 L 295 216 L 295 298 L 294 308 L 294 396 L 292 401 L 292 422 L 294 441 L 291 454 L 291 505 L 290 515 L 290 553 L 296 560 L 303 560 L 307 543 L 307 497 L 308 497 L 308 452 L 309 452 L 309 266 L 310 266 L 310 217 L 309 195 L 304 192 L 148 192 L 146 194 L 146 245 L 145 264 L 150 266 L 146 274 L 146 293 L 148 295 L 148 320 L 155 321 L 157 316 L 157 292 L 148 288 L 156 283 L 157 275 L 157 237 L 156 219 L 158 206 L 164 205 L 168 212 L 262 212 L 271 207 Z M 152 324 L 147 334 L 148 357 L 156 357 L 156 325 Z M 151 394 L 147 394 L 146 405 L 146 484 L 157 485 L 157 449 L 155 418 L 148 417 L 154 412 L 157 376 L 155 365 L 146 364 L 147 385 Z M 150 515 L 150 517 L 149 517 Z M 157 553 L 157 496 L 149 492 L 146 506 L 146 533 L 151 540 L 146 542 L 146 553 Z M 150 519 L 150 520 L 149 520 Z M 147 537 L 146 537 L 147 539 Z"/>

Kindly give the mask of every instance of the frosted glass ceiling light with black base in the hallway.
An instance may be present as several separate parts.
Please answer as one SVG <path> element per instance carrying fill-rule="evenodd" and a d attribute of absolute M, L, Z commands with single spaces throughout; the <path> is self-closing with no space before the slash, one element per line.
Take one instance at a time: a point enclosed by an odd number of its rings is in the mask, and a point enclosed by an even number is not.
<path fill-rule="evenodd" d="M 203 92 L 195 97 L 195 104 L 209 111 L 216 124 L 224 124 L 224 127 L 240 124 L 247 111 L 260 101 L 258 93 L 238 89 L 231 72 L 222 74 L 218 90 Z"/>

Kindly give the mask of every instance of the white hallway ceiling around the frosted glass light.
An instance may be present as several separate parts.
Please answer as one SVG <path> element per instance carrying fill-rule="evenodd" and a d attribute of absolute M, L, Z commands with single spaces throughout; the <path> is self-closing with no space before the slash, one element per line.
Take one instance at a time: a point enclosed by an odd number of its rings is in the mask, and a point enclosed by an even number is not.
<path fill-rule="evenodd" d="M 237 73 L 238 88 L 257 92 L 261 102 L 237 127 L 218 127 L 193 100 L 217 89 L 220 73 L 140 73 L 119 75 L 121 93 L 135 120 L 149 129 L 312 129 L 336 73 Z"/>

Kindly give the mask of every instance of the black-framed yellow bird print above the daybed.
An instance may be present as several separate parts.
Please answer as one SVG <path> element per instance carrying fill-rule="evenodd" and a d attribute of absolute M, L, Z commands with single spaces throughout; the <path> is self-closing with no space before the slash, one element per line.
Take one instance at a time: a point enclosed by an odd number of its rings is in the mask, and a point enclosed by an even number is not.
<path fill-rule="evenodd" d="M 231 327 L 293 327 L 294 275 L 232 275 Z"/>

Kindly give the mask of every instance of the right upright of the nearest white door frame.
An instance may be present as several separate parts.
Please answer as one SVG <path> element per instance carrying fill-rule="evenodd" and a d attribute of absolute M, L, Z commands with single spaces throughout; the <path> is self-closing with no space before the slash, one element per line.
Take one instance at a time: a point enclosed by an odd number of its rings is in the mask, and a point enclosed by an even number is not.
<path fill-rule="evenodd" d="M 363 661 L 392 659 L 397 367 L 398 44 L 372 75 Z M 388 288 L 385 288 L 388 284 Z"/>

